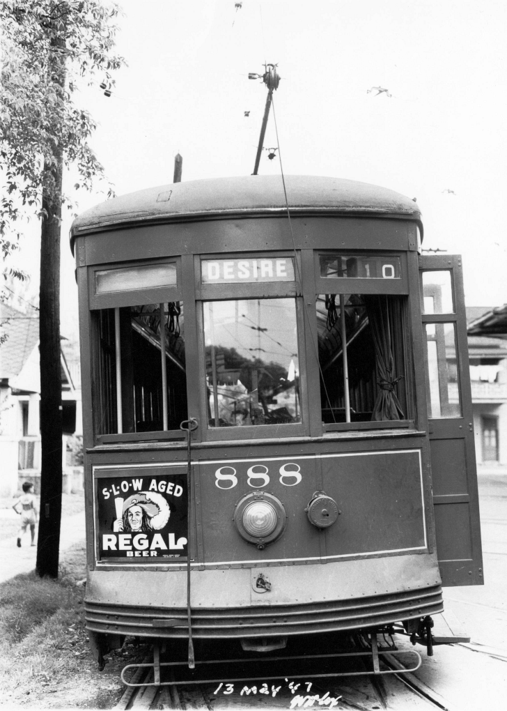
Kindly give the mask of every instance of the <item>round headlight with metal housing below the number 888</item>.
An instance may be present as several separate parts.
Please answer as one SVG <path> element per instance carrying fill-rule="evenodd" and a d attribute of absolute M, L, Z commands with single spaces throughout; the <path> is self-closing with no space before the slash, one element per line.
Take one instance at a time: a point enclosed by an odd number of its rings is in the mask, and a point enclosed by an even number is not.
<path fill-rule="evenodd" d="M 265 491 L 255 491 L 236 504 L 234 523 L 244 540 L 259 550 L 279 538 L 285 528 L 287 514 L 283 503 Z"/>

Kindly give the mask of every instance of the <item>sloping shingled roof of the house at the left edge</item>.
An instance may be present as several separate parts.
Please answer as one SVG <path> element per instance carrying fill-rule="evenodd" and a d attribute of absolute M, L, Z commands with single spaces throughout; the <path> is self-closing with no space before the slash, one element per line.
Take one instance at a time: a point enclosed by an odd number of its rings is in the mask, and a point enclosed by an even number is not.
<path fill-rule="evenodd" d="M 0 336 L 6 336 L 0 343 L 0 378 L 14 378 L 38 343 L 38 316 L 0 304 Z"/>

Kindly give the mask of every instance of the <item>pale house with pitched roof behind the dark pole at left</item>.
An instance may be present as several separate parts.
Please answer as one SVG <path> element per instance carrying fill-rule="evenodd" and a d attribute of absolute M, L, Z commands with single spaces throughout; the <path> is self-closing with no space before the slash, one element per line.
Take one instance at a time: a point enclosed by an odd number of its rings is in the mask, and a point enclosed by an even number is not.
<path fill-rule="evenodd" d="M 0 496 L 18 491 L 18 480 L 36 483 L 40 478 L 40 372 L 39 319 L 0 304 Z M 65 351 L 67 350 L 67 363 Z M 73 349 L 62 339 L 63 466 L 72 479 L 67 461 L 70 437 L 82 434 L 79 368 Z M 77 360 L 78 363 L 78 360 Z M 68 488 L 68 487 L 67 487 Z"/>

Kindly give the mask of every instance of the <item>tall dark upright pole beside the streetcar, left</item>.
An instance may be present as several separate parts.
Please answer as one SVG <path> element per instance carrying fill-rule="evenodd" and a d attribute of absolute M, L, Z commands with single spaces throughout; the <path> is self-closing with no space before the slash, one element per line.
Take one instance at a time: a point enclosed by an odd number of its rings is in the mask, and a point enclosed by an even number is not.
<path fill-rule="evenodd" d="M 62 515 L 62 378 L 60 364 L 60 223 L 62 152 L 55 155 L 55 194 L 43 192 L 40 243 L 40 522 L 36 570 L 40 577 L 58 577 L 60 519 Z"/>

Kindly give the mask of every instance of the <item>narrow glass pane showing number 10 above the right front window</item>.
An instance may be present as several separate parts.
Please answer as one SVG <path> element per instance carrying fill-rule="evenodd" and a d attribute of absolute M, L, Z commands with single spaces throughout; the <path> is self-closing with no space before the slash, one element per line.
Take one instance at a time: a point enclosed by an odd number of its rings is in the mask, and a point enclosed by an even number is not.
<path fill-rule="evenodd" d="M 324 279 L 400 279 L 400 257 L 381 255 L 320 255 Z"/>

